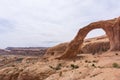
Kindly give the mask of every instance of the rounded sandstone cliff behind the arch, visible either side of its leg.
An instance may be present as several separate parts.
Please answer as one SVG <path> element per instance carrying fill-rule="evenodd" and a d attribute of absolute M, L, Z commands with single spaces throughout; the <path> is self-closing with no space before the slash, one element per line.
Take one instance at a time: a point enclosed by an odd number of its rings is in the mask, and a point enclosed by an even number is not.
<path fill-rule="evenodd" d="M 60 57 L 64 54 L 69 43 L 61 43 L 47 50 L 44 57 Z M 110 49 L 110 42 L 106 35 L 85 39 L 78 54 L 100 54 Z"/>

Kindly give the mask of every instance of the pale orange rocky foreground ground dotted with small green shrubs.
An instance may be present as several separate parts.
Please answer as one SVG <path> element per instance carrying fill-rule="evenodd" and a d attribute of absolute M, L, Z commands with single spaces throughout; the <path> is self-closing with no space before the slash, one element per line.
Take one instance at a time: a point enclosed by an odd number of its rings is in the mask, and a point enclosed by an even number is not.
<path fill-rule="evenodd" d="M 74 60 L 0 56 L 0 80 L 120 80 L 120 52 L 78 56 Z"/>

